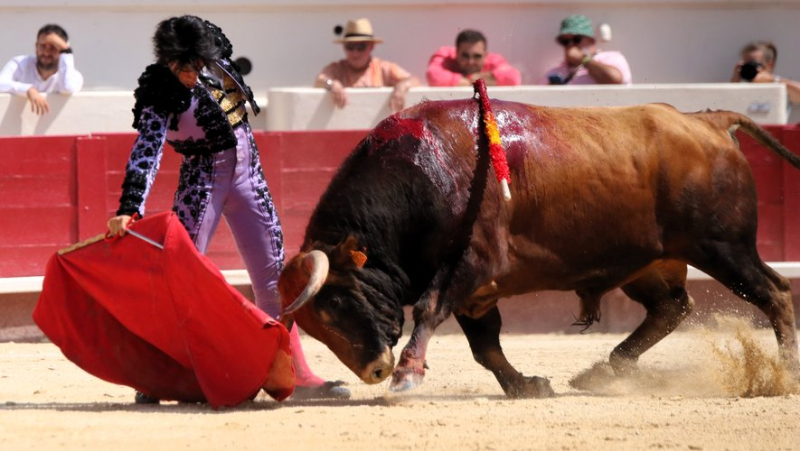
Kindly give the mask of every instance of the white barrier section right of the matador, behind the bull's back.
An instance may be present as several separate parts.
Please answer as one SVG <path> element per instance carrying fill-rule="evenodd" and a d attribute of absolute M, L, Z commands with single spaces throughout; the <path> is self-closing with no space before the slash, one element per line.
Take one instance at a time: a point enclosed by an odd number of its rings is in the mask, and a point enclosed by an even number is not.
<path fill-rule="evenodd" d="M 349 89 L 349 104 L 336 108 L 329 93 L 315 88 L 276 88 L 267 91 L 267 130 L 365 130 L 391 114 L 390 88 Z M 422 100 L 472 97 L 471 87 L 412 88 L 406 105 Z M 668 103 L 680 111 L 730 110 L 760 124 L 786 124 L 787 99 L 783 84 L 701 83 L 633 86 L 515 86 L 489 87 L 495 99 L 542 106 L 623 106 Z"/>

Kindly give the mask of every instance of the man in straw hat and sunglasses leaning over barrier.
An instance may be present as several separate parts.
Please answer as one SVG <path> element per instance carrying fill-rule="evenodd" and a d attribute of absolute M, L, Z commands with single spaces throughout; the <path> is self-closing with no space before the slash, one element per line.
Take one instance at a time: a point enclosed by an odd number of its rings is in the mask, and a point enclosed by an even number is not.
<path fill-rule="evenodd" d="M 336 27 L 336 34 L 341 34 L 341 27 Z M 336 106 L 344 108 L 347 105 L 345 88 L 394 86 L 389 105 L 392 111 L 403 109 L 408 88 L 418 86 L 419 80 L 397 64 L 372 56 L 375 44 L 383 40 L 373 35 L 369 20 L 348 21 L 344 37 L 333 42 L 343 44 L 345 59 L 325 66 L 317 75 L 315 87 L 330 91 Z"/>

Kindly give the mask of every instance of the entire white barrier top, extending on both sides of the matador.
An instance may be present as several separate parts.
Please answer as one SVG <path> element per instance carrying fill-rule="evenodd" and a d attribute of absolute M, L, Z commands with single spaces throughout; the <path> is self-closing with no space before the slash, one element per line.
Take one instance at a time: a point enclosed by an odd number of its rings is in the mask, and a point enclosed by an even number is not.
<path fill-rule="evenodd" d="M 262 114 L 250 115 L 255 130 L 367 130 L 391 114 L 390 88 L 350 89 L 350 104 L 334 106 L 330 94 L 316 88 L 275 88 L 257 95 Z M 615 106 L 669 103 L 681 111 L 707 108 L 745 114 L 760 124 L 787 122 L 782 84 L 651 84 L 633 86 L 490 87 L 492 98 L 545 106 Z M 408 106 L 424 99 L 472 97 L 472 88 L 412 88 Z M 77 135 L 132 132 L 130 91 L 50 94 L 50 112 L 37 116 L 25 97 L 0 94 L 0 136 Z M 266 114 L 264 114 L 266 113 Z"/>

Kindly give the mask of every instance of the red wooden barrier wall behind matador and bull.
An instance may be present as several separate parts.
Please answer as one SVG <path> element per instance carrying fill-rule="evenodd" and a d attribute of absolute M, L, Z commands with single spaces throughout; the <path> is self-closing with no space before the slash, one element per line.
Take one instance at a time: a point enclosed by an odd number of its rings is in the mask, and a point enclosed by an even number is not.
<path fill-rule="evenodd" d="M 769 127 L 800 151 L 800 128 Z M 258 132 L 256 142 L 281 215 L 286 251 L 299 249 L 308 218 L 336 168 L 366 131 Z M 41 275 L 56 250 L 105 230 L 117 209 L 134 134 L 0 138 L 0 277 Z M 800 172 L 740 136 L 759 195 L 758 246 L 767 261 L 800 260 Z M 168 210 L 180 156 L 166 149 L 147 202 Z M 209 248 L 222 269 L 243 268 L 224 223 Z"/>

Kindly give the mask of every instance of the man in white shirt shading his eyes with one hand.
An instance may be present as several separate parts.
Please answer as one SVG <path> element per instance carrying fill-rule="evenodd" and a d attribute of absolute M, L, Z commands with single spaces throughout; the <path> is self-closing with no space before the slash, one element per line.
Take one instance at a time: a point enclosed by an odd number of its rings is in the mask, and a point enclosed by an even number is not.
<path fill-rule="evenodd" d="M 67 32 L 48 24 L 36 35 L 36 54 L 11 59 L 0 71 L 0 92 L 25 94 L 31 111 L 42 115 L 50 105 L 42 93 L 72 94 L 83 87 L 83 75 L 75 69 Z"/>

